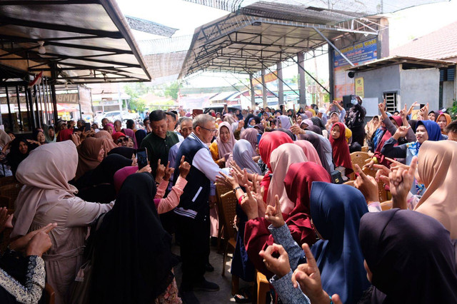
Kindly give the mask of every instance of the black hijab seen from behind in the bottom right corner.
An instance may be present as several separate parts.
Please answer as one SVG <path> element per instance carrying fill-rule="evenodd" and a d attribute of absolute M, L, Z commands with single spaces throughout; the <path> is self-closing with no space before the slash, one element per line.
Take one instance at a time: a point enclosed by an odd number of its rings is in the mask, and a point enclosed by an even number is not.
<path fill-rule="evenodd" d="M 454 246 L 434 218 L 398 208 L 366 213 L 358 237 L 373 273 L 371 303 L 457 303 Z"/>

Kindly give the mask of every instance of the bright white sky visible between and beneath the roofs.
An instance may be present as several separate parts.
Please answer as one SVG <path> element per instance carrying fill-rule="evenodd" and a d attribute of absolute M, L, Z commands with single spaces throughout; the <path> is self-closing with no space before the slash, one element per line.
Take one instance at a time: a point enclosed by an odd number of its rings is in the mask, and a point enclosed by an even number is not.
<path fill-rule="evenodd" d="M 134 16 L 178 29 L 174 36 L 192 35 L 197 27 L 229 14 L 228 11 L 183 0 L 117 0 L 117 2 L 126 16 Z M 457 21 L 456 11 L 457 0 L 452 0 L 416 6 L 387 14 L 391 49 Z M 164 38 L 139 31 L 134 31 L 134 35 L 138 41 Z M 305 61 L 307 71 L 316 73 L 316 67 L 319 78 L 328 78 L 327 56 L 318 57 L 316 62 L 313 59 Z M 283 69 L 284 78 L 292 78 L 296 74 L 298 74 L 298 69 L 295 65 Z M 227 81 L 239 84 L 230 75 L 224 74 L 215 77 L 214 74 L 210 74 L 210 76 L 191 77 L 184 85 L 194 87 L 228 86 Z"/>

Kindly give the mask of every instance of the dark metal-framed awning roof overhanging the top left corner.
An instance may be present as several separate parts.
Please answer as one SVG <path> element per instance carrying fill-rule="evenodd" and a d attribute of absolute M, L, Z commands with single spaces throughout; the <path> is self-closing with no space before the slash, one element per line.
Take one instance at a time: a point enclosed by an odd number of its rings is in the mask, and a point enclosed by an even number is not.
<path fill-rule="evenodd" d="M 114 0 L 1 1 L 0 23 L 0 65 L 48 76 L 56 65 L 61 83 L 151 79 Z"/>

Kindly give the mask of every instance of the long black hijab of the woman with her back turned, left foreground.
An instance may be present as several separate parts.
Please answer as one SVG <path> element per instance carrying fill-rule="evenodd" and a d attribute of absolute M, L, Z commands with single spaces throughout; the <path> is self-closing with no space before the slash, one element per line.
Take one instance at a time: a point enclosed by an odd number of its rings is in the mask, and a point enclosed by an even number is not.
<path fill-rule="evenodd" d="M 171 235 L 161 225 L 155 195 L 149 173 L 124 181 L 94 233 L 91 303 L 154 303 L 173 280 Z"/>

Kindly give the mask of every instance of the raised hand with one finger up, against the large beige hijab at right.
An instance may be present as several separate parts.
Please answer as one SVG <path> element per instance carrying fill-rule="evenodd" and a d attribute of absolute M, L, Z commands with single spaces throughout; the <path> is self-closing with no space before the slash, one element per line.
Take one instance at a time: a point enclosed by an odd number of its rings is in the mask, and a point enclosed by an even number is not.
<path fill-rule="evenodd" d="M 400 167 L 388 175 L 393 208 L 406 209 L 406 197 L 413 184 L 416 168 L 417 156 L 414 156 L 408 169 Z"/>

